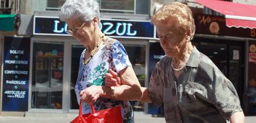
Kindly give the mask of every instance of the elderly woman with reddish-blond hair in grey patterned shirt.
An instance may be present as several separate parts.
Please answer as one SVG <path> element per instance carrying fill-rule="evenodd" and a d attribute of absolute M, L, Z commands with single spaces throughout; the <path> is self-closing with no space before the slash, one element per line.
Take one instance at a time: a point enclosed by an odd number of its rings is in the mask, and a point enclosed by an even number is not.
<path fill-rule="evenodd" d="M 192 46 L 195 23 L 189 7 L 171 2 L 161 7 L 151 22 L 166 55 L 156 63 L 149 87 L 142 87 L 140 101 L 154 106 L 164 104 L 168 123 L 244 122 L 232 82 L 210 58 Z M 106 83 L 111 83 L 112 73 L 106 75 Z"/>

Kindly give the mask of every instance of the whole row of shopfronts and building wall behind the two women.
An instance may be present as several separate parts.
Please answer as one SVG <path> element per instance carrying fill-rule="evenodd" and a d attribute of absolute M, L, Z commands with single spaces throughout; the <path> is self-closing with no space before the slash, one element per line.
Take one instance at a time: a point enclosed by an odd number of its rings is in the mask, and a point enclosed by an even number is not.
<path fill-rule="evenodd" d="M 20 17 L 17 21 L 19 28 L 11 34 L 0 31 L 1 115 L 78 112 L 74 85 L 84 47 L 66 34 L 67 25 L 58 18 L 64 2 L 17 1 L 19 9 L 15 10 Z M 171 1 L 98 2 L 101 30 L 124 44 L 140 84 L 147 87 L 153 66 L 164 55 L 156 28 L 150 24 L 150 16 L 162 4 Z M 210 57 L 233 82 L 245 114 L 256 115 L 256 99 L 252 96 L 256 92 L 255 29 L 228 28 L 223 15 L 218 12 L 193 1 L 183 2 L 194 14 L 194 46 Z M 254 4 L 252 2 L 248 1 Z M 17 102 L 19 105 L 13 106 Z M 161 108 L 139 101 L 130 103 L 134 111 L 161 115 Z"/>

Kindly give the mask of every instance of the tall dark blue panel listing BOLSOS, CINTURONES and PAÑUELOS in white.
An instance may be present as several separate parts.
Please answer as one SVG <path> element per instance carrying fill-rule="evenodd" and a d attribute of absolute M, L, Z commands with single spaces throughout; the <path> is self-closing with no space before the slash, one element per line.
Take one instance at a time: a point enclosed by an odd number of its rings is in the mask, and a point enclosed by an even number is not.
<path fill-rule="evenodd" d="M 2 111 L 28 110 L 30 38 L 4 38 Z"/>

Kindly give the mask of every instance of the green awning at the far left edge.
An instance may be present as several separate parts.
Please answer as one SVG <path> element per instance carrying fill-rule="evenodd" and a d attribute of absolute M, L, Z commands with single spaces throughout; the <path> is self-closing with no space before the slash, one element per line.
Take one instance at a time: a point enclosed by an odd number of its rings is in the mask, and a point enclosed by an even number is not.
<path fill-rule="evenodd" d="M 15 15 L 0 14 L 0 31 L 13 31 L 14 18 Z"/>

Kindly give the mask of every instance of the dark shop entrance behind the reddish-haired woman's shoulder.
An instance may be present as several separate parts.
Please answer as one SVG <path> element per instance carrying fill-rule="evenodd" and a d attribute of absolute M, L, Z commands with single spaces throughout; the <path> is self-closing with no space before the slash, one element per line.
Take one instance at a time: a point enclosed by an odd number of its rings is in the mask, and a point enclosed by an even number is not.
<path fill-rule="evenodd" d="M 228 77 L 242 101 L 244 92 L 244 42 L 195 38 L 192 44 L 200 52 L 207 55 L 221 72 Z"/>

